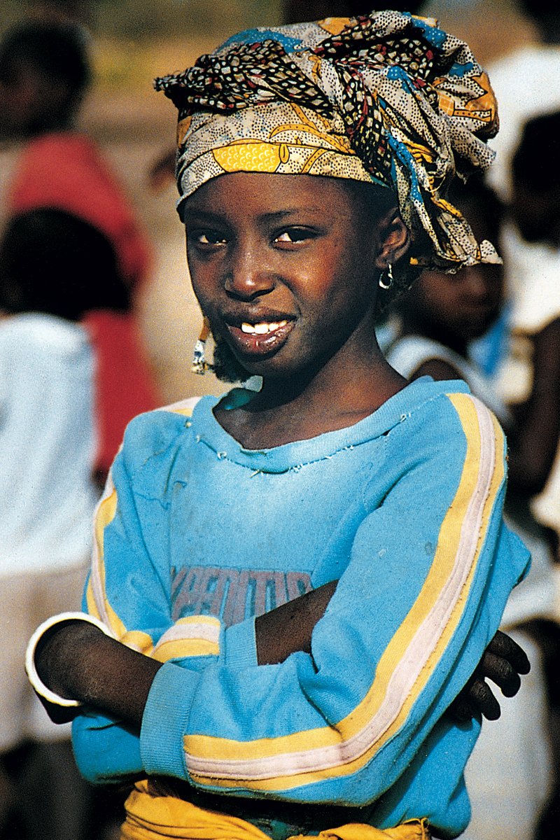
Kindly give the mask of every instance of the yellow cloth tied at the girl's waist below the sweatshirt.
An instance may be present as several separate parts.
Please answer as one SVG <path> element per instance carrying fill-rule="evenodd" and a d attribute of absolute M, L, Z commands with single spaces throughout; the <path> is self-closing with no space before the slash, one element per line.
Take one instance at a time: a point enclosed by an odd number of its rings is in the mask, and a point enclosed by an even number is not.
<path fill-rule="evenodd" d="M 121 840 L 270 840 L 258 827 L 238 816 L 208 811 L 176 796 L 162 795 L 147 780 L 134 785 L 125 810 Z M 348 822 L 322 831 L 317 837 L 300 834 L 289 840 L 430 840 L 430 832 L 424 819 L 385 829 Z"/>

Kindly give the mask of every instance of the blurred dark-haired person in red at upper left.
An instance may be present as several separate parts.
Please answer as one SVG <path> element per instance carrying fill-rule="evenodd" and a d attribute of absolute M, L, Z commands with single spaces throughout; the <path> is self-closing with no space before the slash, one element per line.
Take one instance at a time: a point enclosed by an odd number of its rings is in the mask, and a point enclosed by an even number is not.
<path fill-rule="evenodd" d="M 5 217 L 62 210 L 105 236 L 118 262 L 117 305 L 108 302 L 84 320 L 95 349 L 102 483 L 128 421 L 160 398 L 134 316 L 134 297 L 149 274 L 149 241 L 96 144 L 76 130 L 90 78 L 86 39 L 74 25 L 21 24 L 0 44 L 0 139 L 13 151 Z"/>

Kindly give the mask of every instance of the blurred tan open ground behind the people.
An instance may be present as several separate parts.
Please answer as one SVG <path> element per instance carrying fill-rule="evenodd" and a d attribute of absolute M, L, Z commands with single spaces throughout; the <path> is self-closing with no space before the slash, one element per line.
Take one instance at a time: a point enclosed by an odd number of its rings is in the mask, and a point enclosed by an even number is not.
<path fill-rule="evenodd" d="M 390 3 L 387 4 L 390 6 Z M 155 160 L 173 148 L 175 108 L 152 89 L 154 76 L 183 70 L 229 34 L 279 24 L 280 0 L 0 0 L 0 34 L 29 14 L 64 7 L 92 33 L 94 79 L 80 128 L 101 146 L 132 198 L 154 246 L 154 266 L 139 301 L 139 316 L 165 402 L 220 393 L 211 374 L 191 374 L 192 346 L 200 330 L 175 214 L 175 186 L 149 185 Z M 303 5 L 302 5 L 303 8 Z M 308 7 L 309 8 L 309 7 Z M 425 14 L 467 40 L 482 64 L 534 37 L 516 0 L 438 0 Z"/>

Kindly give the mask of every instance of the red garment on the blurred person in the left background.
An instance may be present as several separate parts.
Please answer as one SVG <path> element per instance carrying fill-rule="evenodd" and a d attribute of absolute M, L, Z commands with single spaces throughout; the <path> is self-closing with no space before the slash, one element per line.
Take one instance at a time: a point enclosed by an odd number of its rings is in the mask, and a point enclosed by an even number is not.
<path fill-rule="evenodd" d="M 113 244 L 131 291 L 149 272 L 149 242 L 96 144 L 60 132 L 32 139 L 22 150 L 8 192 L 8 214 L 51 207 L 82 218 Z M 135 415 L 160 403 L 133 313 L 102 310 L 84 319 L 95 352 L 96 469 L 107 472 Z"/>

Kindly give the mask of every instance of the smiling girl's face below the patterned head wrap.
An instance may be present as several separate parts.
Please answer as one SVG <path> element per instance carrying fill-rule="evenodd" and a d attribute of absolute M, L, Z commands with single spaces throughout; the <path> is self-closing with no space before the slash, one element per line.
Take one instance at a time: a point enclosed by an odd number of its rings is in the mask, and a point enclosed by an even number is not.
<path fill-rule="evenodd" d="M 214 178 L 187 200 L 196 297 L 249 373 L 370 352 L 379 223 L 363 204 L 332 178 L 264 173 Z"/>

